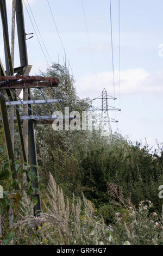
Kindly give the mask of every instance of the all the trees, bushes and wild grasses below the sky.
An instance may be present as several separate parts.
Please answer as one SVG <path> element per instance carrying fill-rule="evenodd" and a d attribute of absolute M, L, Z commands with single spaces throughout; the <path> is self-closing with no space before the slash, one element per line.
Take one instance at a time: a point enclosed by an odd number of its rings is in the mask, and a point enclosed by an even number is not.
<path fill-rule="evenodd" d="M 66 66 L 53 64 L 45 76 L 59 78 L 56 89 L 70 111 L 86 111 L 89 99 L 80 100 Z M 51 90 L 44 90 L 51 97 Z M 39 94 L 33 92 L 33 96 Z M 61 111 L 58 104 L 57 110 Z M 32 182 L 23 191 L 21 175 L 34 179 L 30 166 L 21 164 L 15 139 L 16 180 L 10 162 L 1 151 L 0 199 L 2 227 L 8 223 L 10 199 L 14 228 L 3 228 L 0 243 L 15 245 L 162 245 L 163 149 L 133 143 L 118 133 L 102 137 L 100 131 L 54 131 L 51 125 L 35 125 L 37 158 L 41 175 L 42 213 L 34 216 L 36 204 Z M 4 146 L 3 131 L 0 141 Z M 15 131 L 15 138 L 17 138 Z M 15 184 L 15 185 L 13 185 Z M 22 193 L 16 199 L 10 191 Z M 12 187 L 14 186 L 14 187 Z M 5 201 L 5 202 L 4 202 Z M 3 210 L 2 210 L 3 209 Z"/>

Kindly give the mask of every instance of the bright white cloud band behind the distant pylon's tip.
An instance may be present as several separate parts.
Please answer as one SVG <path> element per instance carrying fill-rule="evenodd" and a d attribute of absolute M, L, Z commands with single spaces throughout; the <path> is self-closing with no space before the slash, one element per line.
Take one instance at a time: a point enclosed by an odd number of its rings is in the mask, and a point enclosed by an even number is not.
<path fill-rule="evenodd" d="M 115 90 L 118 94 L 118 71 L 115 71 Z M 114 92 L 112 72 L 101 72 L 79 78 L 78 83 L 89 97 L 100 95 L 103 88 L 112 95 Z M 121 71 L 121 94 L 163 92 L 163 70 L 151 75 L 145 69 L 127 69 Z"/>

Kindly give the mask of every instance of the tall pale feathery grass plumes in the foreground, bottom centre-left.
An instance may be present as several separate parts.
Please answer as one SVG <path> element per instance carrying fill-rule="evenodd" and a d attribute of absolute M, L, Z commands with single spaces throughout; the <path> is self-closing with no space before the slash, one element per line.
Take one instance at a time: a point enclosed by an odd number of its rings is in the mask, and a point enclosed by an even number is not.
<path fill-rule="evenodd" d="M 83 200 L 75 199 L 74 196 L 71 202 L 66 200 L 62 189 L 57 186 L 50 174 L 47 198 L 46 210 L 42 211 L 39 217 L 35 217 L 32 211 L 29 214 L 29 199 L 24 194 L 23 203 L 20 202 L 21 220 L 15 223 L 16 235 L 21 234 L 18 237 L 18 244 L 23 237 L 30 237 L 32 245 L 109 244 L 106 225 L 96 216 L 96 209 L 84 195 Z"/>

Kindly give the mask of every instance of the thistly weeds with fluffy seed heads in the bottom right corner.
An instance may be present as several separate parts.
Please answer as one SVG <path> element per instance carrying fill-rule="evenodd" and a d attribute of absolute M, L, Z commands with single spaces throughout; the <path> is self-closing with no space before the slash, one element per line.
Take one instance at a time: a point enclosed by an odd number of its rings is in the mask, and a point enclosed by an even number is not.
<path fill-rule="evenodd" d="M 117 222 L 112 230 L 116 243 L 129 241 L 130 245 L 161 245 L 163 241 L 163 220 L 151 212 L 149 200 L 139 203 L 139 209 L 130 207 L 129 214 L 116 213 Z"/>

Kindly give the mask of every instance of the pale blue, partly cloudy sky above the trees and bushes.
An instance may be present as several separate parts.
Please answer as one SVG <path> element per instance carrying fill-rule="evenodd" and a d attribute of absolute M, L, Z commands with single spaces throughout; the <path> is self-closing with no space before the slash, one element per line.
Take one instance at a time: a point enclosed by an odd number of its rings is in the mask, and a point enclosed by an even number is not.
<path fill-rule="evenodd" d="M 51 60 L 63 63 L 65 48 L 70 69 L 73 70 L 76 80 L 78 96 L 93 99 L 102 94 L 103 88 L 109 95 L 114 95 L 109 0 L 83 0 L 87 30 L 82 0 L 49 0 L 60 38 L 47 0 L 28 0 L 28 2 Z M 23 1 L 26 3 L 40 39 L 28 2 Z M 11 3 L 11 0 L 7 0 L 9 21 L 11 21 Z M 156 139 L 160 143 L 163 142 L 162 9 L 162 0 L 120 0 L 121 79 L 119 86 L 118 0 L 111 1 L 117 98 L 115 104 L 117 108 L 122 109 L 116 114 L 110 113 L 112 118 L 118 120 L 117 124 L 111 124 L 112 131 L 128 136 L 133 142 L 141 140 L 145 143 L 146 138 L 147 143 L 154 148 Z M 30 74 L 36 75 L 39 74 L 39 70 L 45 71 L 48 64 L 51 65 L 51 61 L 42 45 L 48 60 L 47 64 L 25 6 L 24 17 L 26 33 L 34 33 L 34 38 L 27 40 L 27 50 L 29 64 L 33 65 Z M 10 22 L 9 33 L 11 34 Z M 0 55 L 4 63 L 1 25 Z M 20 65 L 17 56 L 16 40 L 15 66 Z M 100 102 L 95 101 L 94 104 L 99 106 Z M 109 102 L 109 105 L 114 105 L 114 102 Z"/>

